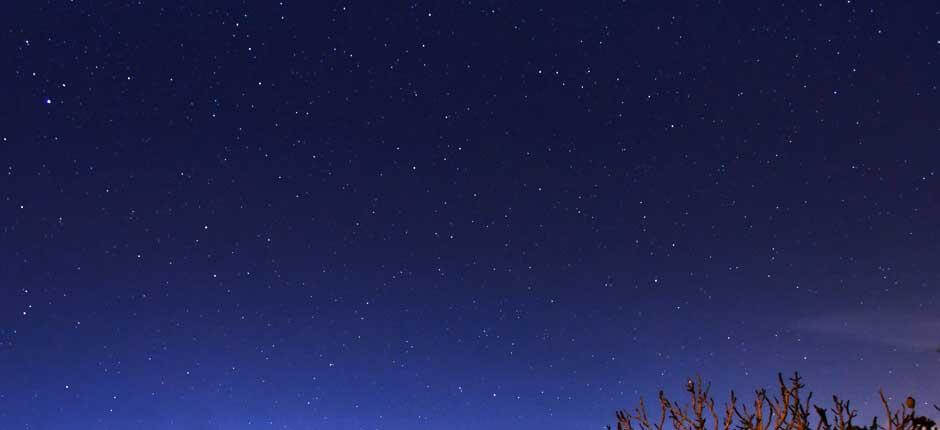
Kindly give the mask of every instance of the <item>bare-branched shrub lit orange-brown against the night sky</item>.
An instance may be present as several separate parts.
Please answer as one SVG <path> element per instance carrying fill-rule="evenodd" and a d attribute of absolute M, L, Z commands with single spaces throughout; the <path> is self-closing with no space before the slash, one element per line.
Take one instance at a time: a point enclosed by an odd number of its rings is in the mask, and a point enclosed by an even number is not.
<path fill-rule="evenodd" d="M 651 421 L 646 405 L 640 399 L 633 412 L 616 412 L 617 430 L 670 430 L 667 425 L 672 426 L 671 430 L 940 430 L 933 420 L 916 414 L 917 404 L 912 397 L 905 399 L 899 408 L 892 409 L 884 391 L 879 391 L 887 426 L 879 425 L 878 417 L 875 417 L 871 426 L 865 427 L 854 423 L 857 411 L 851 408 L 848 400 L 832 396 L 832 407 L 826 409 L 810 402 L 812 392 L 805 399 L 801 397 L 805 386 L 798 373 L 794 373 L 789 381 L 784 380 L 783 374 L 778 374 L 777 381 L 779 394 L 770 396 L 765 389 L 757 390 L 748 407 L 739 403 L 732 391 L 729 401 L 718 411 L 715 399 L 709 394 L 710 386 L 702 383 L 701 377 L 689 379 L 685 387 L 689 394 L 688 404 L 669 400 L 660 391 L 659 414 L 655 420 Z M 935 405 L 934 408 L 940 411 L 940 407 Z M 607 428 L 611 429 L 610 426 Z"/>

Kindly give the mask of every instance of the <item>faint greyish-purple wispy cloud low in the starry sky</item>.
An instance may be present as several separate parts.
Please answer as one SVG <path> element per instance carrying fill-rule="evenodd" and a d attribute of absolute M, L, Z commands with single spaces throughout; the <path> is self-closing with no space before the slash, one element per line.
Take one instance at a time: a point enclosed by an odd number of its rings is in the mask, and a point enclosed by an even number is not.
<path fill-rule="evenodd" d="M 940 317 L 901 312 L 835 313 L 797 320 L 799 331 L 892 347 L 936 351 Z"/>

